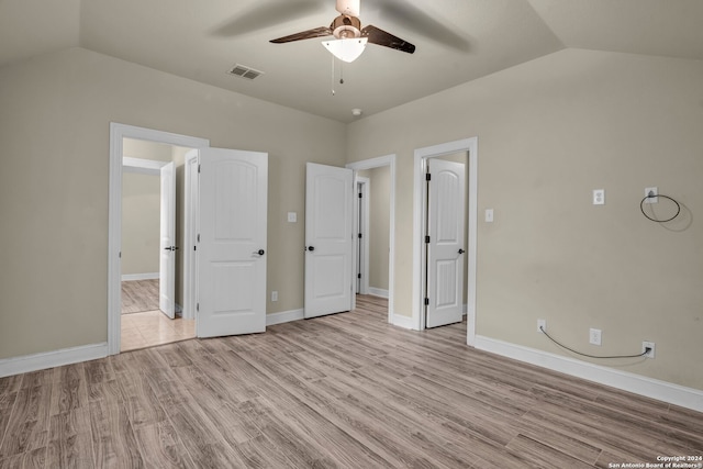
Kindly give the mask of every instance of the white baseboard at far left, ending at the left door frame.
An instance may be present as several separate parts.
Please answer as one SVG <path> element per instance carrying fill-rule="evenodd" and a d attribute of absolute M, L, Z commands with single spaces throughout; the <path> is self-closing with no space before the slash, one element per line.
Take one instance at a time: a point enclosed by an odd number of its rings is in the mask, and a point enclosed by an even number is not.
<path fill-rule="evenodd" d="M 108 356 L 108 343 L 0 359 L 0 378 L 30 371 L 94 360 Z"/>

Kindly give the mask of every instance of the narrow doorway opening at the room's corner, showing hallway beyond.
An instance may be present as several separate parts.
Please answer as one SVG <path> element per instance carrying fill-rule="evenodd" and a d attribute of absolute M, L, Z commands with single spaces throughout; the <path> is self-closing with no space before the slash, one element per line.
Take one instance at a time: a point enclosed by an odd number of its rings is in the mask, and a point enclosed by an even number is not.
<path fill-rule="evenodd" d="M 356 216 L 354 277 L 357 279 L 352 308 L 357 300 L 380 312 L 387 310 L 387 320 L 395 324 L 393 286 L 395 277 L 395 155 L 350 163 L 355 171 Z M 359 198 L 358 194 L 361 193 Z M 359 278 L 360 275 L 360 278 Z M 361 297 L 362 295 L 362 297 Z"/>

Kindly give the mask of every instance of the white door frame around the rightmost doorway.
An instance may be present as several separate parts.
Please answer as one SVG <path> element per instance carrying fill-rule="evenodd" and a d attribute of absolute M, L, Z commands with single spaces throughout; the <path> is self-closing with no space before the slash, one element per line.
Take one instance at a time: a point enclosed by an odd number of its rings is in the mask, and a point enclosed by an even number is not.
<path fill-rule="evenodd" d="M 425 328 L 424 291 L 422 284 L 422 272 L 425 269 L 425 258 L 423 256 L 423 226 L 425 224 L 426 204 L 425 191 L 425 168 L 428 158 L 451 155 L 455 153 L 468 152 L 469 154 L 469 214 L 467 216 L 467 230 L 469 234 L 469 245 L 467 246 L 468 278 L 467 282 L 467 344 L 473 346 L 476 343 L 476 253 L 477 253 L 477 228 L 478 228 L 478 137 L 465 138 L 448 142 L 439 145 L 427 146 L 415 149 L 413 164 L 413 319 L 414 328 L 422 331 Z"/>

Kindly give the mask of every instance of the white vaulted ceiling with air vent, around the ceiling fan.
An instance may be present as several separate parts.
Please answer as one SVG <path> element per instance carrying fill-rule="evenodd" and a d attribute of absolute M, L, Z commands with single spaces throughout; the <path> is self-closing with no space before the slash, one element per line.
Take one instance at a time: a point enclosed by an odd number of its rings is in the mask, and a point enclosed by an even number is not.
<path fill-rule="evenodd" d="M 322 40 L 334 0 L 0 0 L 0 67 L 81 46 L 350 122 L 565 47 L 703 60 L 703 0 L 361 0 L 372 24 L 417 47 L 368 45 L 335 65 Z M 226 74 L 234 64 L 264 71 Z M 335 93 L 333 96 L 332 89 Z"/>

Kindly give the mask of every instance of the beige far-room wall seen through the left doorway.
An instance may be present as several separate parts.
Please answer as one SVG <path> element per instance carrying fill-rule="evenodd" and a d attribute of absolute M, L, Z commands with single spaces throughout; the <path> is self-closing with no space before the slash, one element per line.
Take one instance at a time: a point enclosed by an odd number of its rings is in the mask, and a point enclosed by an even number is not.
<path fill-rule="evenodd" d="M 154 273 L 159 269 L 160 179 L 124 172 L 122 176 L 122 275 Z"/>

